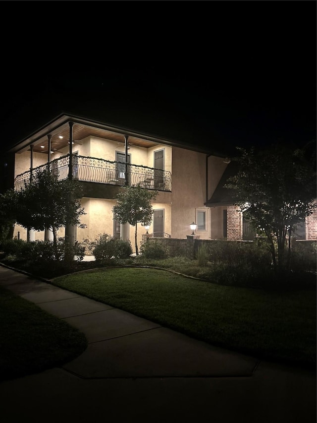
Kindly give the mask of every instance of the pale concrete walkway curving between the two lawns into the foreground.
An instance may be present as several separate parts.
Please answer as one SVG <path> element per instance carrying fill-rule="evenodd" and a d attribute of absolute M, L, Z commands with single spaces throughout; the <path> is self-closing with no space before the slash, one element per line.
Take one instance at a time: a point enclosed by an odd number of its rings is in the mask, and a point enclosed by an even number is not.
<path fill-rule="evenodd" d="M 3 423 L 316 423 L 316 373 L 259 362 L 0 266 L 0 285 L 85 333 L 77 359 L 0 383 Z"/>

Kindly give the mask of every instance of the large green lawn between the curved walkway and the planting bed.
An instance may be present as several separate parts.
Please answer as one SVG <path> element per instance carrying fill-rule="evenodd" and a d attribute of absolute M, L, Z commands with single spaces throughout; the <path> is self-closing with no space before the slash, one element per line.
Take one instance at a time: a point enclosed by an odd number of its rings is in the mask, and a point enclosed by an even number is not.
<path fill-rule="evenodd" d="M 316 365 L 316 291 L 222 286 L 151 268 L 108 268 L 53 284 L 211 344 Z"/>

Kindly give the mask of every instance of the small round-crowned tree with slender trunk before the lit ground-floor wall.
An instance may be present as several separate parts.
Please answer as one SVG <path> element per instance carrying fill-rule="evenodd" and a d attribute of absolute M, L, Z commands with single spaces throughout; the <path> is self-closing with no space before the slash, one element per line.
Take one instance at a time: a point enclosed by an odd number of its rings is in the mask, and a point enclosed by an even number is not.
<path fill-rule="evenodd" d="M 151 201 L 156 198 L 158 191 L 149 191 L 141 186 L 122 187 L 116 198 L 113 212 L 122 223 L 135 226 L 135 252 L 139 255 L 137 243 L 137 224 L 150 225 L 153 208 Z"/>

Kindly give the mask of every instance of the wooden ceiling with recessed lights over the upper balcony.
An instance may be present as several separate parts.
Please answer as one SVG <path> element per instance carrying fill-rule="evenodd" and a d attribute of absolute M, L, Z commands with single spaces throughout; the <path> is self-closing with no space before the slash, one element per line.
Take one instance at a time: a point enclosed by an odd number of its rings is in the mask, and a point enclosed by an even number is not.
<path fill-rule="evenodd" d="M 48 132 L 49 134 L 52 135 L 52 145 L 51 145 L 51 150 L 52 151 L 58 151 L 64 147 L 68 146 L 68 141 L 69 141 L 69 124 L 64 123 L 61 126 L 59 126 L 58 128 L 55 128 L 51 131 Z M 118 133 L 118 132 L 114 132 L 108 129 L 103 129 L 103 128 L 98 128 L 98 127 L 93 127 L 93 126 L 89 126 L 89 125 L 85 125 L 82 123 L 74 123 L 73 126 L 73 142 L 74 145 L 78 144 L 81 145 L 82 144 L 82 140 L 90 135 L 94 135 L 97 136 L 99 138 L 104 138 L 104 139 L 108 139 L 108 140 L 112 140 L 112 141 L 116 141 L 116 142 L 120 142 L 124 145 L 124 135 L 125 133 Z M 62 138 L 60 138 L 62 137 Z M 146 139 L 142 139 L 142 138 L 138 138 L 136 136 L 131 136 L 129 135 L 128 138 L 128 142 L 130 145 L 137 145 L 139 147 L 145 147 L 145 148 L 149 148 L 149 147 L 153 147 L 155 145 L 157 145 L 156 142 L 153 141 L 149 141 Z M 49 148 L 49 140 L 48 140 L 48 135 L 45 134 L 39 138 L 37 138 L 36 140 L 34 140 L 33 142 L 31 142 L 29 145 L 25 146 L 23 149 L 19 150 L 18 152 L 21 153 L 22 151 L 25 150 L 30 150 L 30 145 L 33 145 L 33 151 L 37 152 L 37 153 L 47 153 L 48 152 L 48 148 Z M 44 146 L 41 147 L 41 146 Z M 74 146 L 73 146 L 74 148 Z"/>

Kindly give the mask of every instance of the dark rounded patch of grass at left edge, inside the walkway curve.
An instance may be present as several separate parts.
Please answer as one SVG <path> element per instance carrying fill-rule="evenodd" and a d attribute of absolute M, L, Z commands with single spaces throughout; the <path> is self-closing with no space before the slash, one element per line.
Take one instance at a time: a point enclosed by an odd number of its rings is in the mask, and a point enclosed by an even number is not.
<path fill-rule="evenodd" d="M 3 287 L 0 322 L 0 381 L 61 365 L 87 348 L 79 330 Z"/>

